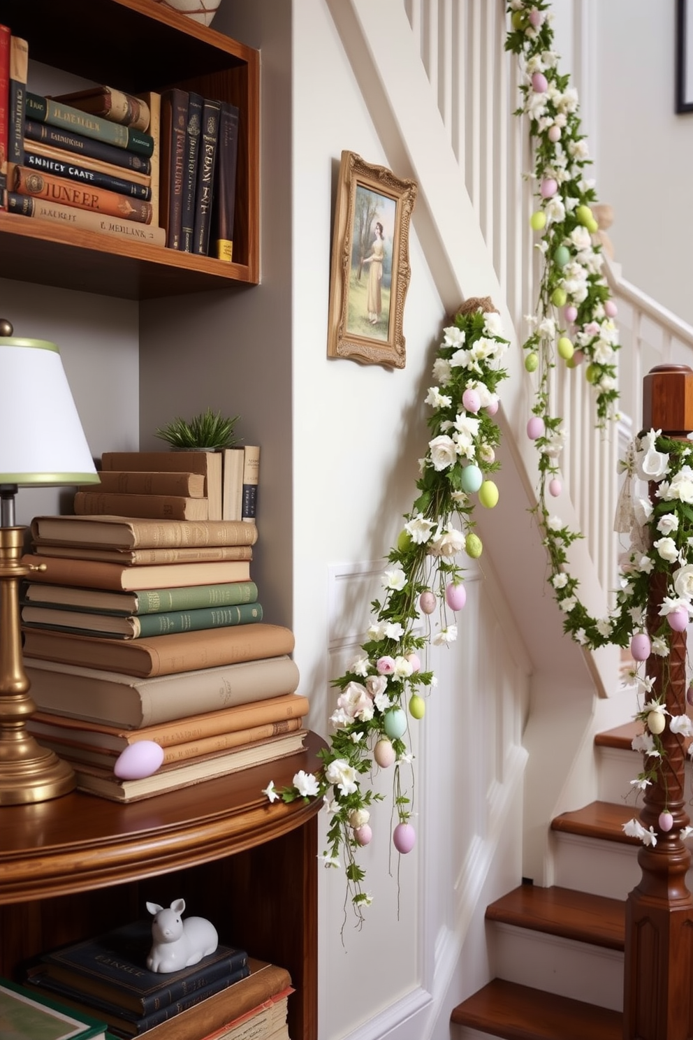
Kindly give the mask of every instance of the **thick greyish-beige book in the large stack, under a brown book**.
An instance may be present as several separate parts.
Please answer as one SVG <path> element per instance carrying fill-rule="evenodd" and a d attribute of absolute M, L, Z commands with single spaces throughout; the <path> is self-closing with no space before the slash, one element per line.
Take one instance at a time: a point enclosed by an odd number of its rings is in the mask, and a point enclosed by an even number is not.
<path fill-rule="evenodd" d="M 171 723 L 174 735 L 183 736 L 190 733 L 189 719 L 201 712 L 216 716 L 239 708 L 234 718 L 247 726 L 267 722 L 261 705 L 295 693 L 299 683 L 296 662 L 287 654 L 152 678 L 35 657 L 27 657 L 25 669 L 41 710 L 122 729 Z M 272 705 L 269 711 L 274 710 Z M 226 721 L 224 727 L 231 729 Z M 189 738 L 195 735 L 211 732 L 201 724 L 199 733 L 195 730 Z"/>

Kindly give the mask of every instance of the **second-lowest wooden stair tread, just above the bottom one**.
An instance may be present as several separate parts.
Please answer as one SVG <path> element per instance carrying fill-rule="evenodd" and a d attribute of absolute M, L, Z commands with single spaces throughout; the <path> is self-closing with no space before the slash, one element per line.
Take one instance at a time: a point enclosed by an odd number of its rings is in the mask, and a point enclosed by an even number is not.
<path fill-rule="evenodd" d="M 623 950 L 625 903 L 553 885 L 519 885 L 486 908 L 486 919 Z"/>

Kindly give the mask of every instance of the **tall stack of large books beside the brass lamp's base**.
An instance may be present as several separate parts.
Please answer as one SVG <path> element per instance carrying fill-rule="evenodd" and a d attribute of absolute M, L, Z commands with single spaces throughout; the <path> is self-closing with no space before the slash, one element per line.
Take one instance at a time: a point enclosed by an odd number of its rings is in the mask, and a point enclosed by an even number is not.
<path fill-rule="evenodd" d="M 255 524 L 47 516 L 31 535 L 28 726 L 79 787 L 129 802 L 301 750 L 309 703 L 293 633 L 262 620 Z M 156 772 L 115 776 L 152 742 Z"/>

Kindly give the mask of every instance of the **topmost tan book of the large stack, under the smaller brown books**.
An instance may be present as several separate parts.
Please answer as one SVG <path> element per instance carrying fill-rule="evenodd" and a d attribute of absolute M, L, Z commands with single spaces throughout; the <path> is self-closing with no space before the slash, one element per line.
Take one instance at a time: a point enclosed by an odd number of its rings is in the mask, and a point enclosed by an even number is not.
<path fill-rule="evenodd" d="M 37 544 L 50 542 L 52 545 L 100 549 L 199 549 L 218 545 L 255 545 L 258 528 L 238 521 L 41 516 L 31 521 L 31 537 Z"/>

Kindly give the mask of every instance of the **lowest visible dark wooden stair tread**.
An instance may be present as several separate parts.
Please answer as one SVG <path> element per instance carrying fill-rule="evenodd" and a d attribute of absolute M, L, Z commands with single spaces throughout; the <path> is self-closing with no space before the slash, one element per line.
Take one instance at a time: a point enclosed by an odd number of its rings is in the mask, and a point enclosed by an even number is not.
<path fill-rule="evenodd" d="M 505 1040 L 622 1040 L 619 1011 L 494 979 L 453 1008 L 457 1025 Z"/>

